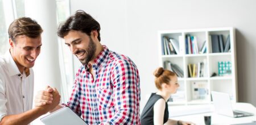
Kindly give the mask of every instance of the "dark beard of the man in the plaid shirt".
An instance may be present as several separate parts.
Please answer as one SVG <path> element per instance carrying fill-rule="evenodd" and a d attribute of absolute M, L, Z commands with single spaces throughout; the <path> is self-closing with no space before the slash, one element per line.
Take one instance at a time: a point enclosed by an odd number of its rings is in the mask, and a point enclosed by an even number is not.
<path fill-rule="evenodd" d="M 79 60 L 82 65 L 87 65 L 89 61 L 91 61 L 95 55 L 96 52 L 96 44 L 93 42 L 92 38 L 89 40 L 89 45 L 88 47 L 83 50 L 85 51 L 86 57 L 84 59 Z M 81 51 L 77 51 L 76 53 L 79 53 Z"/>

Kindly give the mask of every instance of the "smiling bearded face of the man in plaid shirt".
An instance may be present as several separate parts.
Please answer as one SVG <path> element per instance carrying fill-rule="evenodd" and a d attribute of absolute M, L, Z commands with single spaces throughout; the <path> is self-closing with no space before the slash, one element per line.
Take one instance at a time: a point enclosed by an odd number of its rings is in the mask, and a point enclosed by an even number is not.
<path fill-rule="evenodd" d="M 64 36 L 64 39 L 65 44 L 68 45 L 73 55 L 75 55 L 83 65 L 93 60 L 96 53 L 96 44 L 90 36 L 81 31 L 72 30 Z"/>

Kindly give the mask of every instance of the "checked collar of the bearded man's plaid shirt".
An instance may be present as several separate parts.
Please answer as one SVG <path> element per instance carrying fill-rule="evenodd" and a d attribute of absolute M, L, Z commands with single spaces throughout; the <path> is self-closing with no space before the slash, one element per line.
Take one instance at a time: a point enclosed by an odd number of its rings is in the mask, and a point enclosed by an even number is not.
<path fill-rule="evenodd" d="M 102 45 L 103 46 L 103 50 L 100 52 L 100 54 L 96 57 L 96 59 L 94 59 L 94 64 L 92 64 L 92 66 L 96 66 L 101 67 L 102 65 L 105 64 L 105 62 L 108 59 L 108 55 L 109 55 L 109 49 L 108 47 L 106 47 L 106 45 Z M 85 68 L 90 68 L 90 64 L 88 63 L 87 65 L 85 65 Z"/>

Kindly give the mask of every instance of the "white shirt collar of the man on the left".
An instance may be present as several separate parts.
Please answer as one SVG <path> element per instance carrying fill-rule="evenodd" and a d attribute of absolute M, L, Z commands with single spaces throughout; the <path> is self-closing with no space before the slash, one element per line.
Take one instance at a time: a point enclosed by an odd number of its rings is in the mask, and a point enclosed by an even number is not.
<path fill-rule="evenodd" d="M 19 68 L 16 65 L 15 61 L 13 60 L 13 56 L 11 56 L 10 51 L 7 51 L 5 53 L 5 59 L 6 59 L 7 69 L 9 71 L 9 76 L 14 76 L 14 75 L 20 74 Z M 30 75 L 30 69 L 25 68 L 24 73 L 28 77 Z"/>

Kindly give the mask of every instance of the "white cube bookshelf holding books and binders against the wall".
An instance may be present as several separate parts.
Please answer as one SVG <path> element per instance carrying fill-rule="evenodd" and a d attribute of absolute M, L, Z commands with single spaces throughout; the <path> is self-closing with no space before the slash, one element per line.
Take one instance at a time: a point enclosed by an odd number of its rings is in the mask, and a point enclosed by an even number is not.
<path fill-rule="evenodd" d="M 228 93 L 232 102 L 237 102 L 233 27 L 159 31 L 158 35 L 160 66 L 176 74 L 183 72 L 178 75 L 180 87 L 169 105 L 212 103 L 210 91 Z"/>

